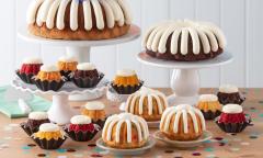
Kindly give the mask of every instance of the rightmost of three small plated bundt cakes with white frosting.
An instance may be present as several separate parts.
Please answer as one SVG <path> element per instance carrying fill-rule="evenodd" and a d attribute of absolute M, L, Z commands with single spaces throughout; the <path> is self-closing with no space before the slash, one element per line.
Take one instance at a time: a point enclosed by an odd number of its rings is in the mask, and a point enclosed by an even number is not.
<path fill-rule="evenodd" d="M 194 140 L 206 129 L 202 112 L 188 104 L 168 108 L 162 114 L 160 131 L 172 140 Z"/>

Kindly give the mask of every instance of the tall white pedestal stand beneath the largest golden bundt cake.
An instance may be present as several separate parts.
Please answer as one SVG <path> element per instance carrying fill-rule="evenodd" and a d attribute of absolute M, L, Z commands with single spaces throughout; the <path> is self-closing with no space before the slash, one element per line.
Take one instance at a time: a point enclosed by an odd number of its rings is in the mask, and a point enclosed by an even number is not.
<path fill-rule="evenodd" d="M 136 25 L 132 25 L 129 32 L 121 37 L 102 41 L 64 41 L 64 40 L 49 40 L 31 35 L 25 29 L 19 31 L 19 37 L 31 43 L 61 46 L 66 47 L 66 54 L 69 56 L 76 56 L 79 63 L 90 61 L 90 50 L 92 46 L 106 46 L 134 41 L 140 36 L 140 29 Z M 94 100 L 102 97 L 104 92 L 99 94 L 99 91 L 90 94 L 76 94 L 70 95 L 71 101 L 84 101 Z"/>

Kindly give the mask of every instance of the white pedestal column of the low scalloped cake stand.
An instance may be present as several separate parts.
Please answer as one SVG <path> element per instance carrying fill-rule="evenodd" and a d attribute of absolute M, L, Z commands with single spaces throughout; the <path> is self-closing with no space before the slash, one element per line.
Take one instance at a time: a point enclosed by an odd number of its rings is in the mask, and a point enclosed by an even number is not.
<path fill-rule="evenodd" d="M 77 112 L 73 111 L 69 105 L 67 94 L 54 94 L 53 104 L 47 114 L 52 122 L 59 125 L 65 125 L 69 123 L 69 120 L 76 115 Z"/>

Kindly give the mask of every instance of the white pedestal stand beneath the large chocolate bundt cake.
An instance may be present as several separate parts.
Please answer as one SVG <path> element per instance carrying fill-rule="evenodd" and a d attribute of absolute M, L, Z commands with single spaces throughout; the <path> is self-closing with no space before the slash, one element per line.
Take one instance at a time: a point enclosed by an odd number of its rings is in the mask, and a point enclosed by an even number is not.
<path fill-rule="evenodd" d="M 222 53 L 218 57 L 201 61 L 172 61 L 153 58 L 140 53 L 137 59 L 149 66 L 173 69 L 171 89 L 173 94 L 168 98 L 169 105 L 187 103 L 194 105 L 198 99 L 199 74 L 202 68 L 217 67 L 233 60 L 230 53 Z"/>

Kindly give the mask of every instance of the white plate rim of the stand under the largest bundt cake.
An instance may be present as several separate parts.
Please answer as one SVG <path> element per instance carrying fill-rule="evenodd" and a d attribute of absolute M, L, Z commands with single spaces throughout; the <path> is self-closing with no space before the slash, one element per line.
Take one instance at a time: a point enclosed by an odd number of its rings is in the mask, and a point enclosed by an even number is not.
<path fill-rule="evenodd" d="M 45 37 L 39 37 L 32 35 L 26 29 L 20 29 L 18 31 L 18 37 L 37 44 L 54 45 L 54 46 L 70 46 L 70 47 L 91 47 L 91 46 L 105 46 L 126 43 L 139 38 L 141 34 L 141 29 L 135 24 L 130 25 L 129 32 L 126 35 L 100 41 L 68 41 L 68 40 L 50 40 Z"/>

